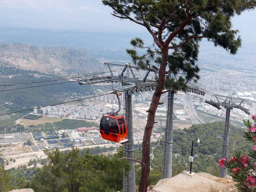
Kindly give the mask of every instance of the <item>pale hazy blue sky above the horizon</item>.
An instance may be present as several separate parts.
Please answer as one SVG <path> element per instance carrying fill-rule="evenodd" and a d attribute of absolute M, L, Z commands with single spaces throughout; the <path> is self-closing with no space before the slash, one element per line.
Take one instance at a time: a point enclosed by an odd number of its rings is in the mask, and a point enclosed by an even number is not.
<path fill-rule="evenodd" d="M 0 26 L 71 29 L 101 32 L 140 31 L 145 29 L 110 15 L 101 0 L 0 0 Z M 256 10 L 233 19 L 243 41 L 254 37 Z M 146 32 L 146 31 L 145 31 Z"/>

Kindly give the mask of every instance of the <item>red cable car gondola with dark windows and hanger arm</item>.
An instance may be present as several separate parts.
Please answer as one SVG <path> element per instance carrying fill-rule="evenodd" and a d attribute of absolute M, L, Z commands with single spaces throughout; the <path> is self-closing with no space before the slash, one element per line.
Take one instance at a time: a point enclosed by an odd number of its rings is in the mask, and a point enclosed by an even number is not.
<path fill-rule="evenodd" d="M 100 134 L 103 139 L 119 142 L 119 143 L 126 143 L 128 139 L 126 139 L 128 135 L 127 124 L 125 121 L 124 116 L 117 116 L 117 113 L 121 109 L 121 102 L 119 100 L 119 92 L 116 92 L 116 96 L 119 102 L 119 110 L 115 113 L 107 113 L 107 115 L 103 115 L 100 124 Z"/>

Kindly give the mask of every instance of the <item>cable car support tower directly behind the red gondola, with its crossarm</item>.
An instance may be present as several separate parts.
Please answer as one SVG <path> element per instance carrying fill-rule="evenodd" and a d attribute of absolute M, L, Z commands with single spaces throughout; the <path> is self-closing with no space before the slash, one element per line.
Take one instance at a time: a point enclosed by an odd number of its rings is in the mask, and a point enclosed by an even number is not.
<path fill-rule="evenodd" d="M 84 79 L 79 80 L 79 84 L 99 84 L 99 83 L 121 83 L 122 86 L 112 87 L 113 91 L 120 91 L 125 94 L 124 100 L 124 111 L 125 119 L 128 127 L 128 142 L 124 145 L 124 157 L 134 159 L 134 139 L 133 139 L 133 122 L 132 122 L 132 94 L 140 93 L 144 91 L 155 90 L 157 82 L 155 80 L 149 79 L 148 75 L 154 73 L 154 76 L 157 76 L 158 71 L 149 68 L 148 70 L 141 70 L 140 67 L 133 66 L 130 64 L 114 64 L 114 63 L 104 63 L 108 66 L 109 76 L 95 76 L 91 74 L 90 76 L 85 76 Z M 111 66 L 123 67 L 122 73 L 115 75 L 116 73 L 112 70 Z M 136 77 L 133 69 L 138 70 L 138 72 L 143 73 L 144 76 L 142 79 Z M 129 77 L 129 71 L 131 72 L 131 78 Z M 125 73 L 126 72 L 126 73 Z M 136 183 L 135 183 L 135 166 L 134 161 L 129 160 L 131 170 L 128 171 L 127 175 L 124 174 L 123 177 L 123 192 L 135 192 Z"/>

